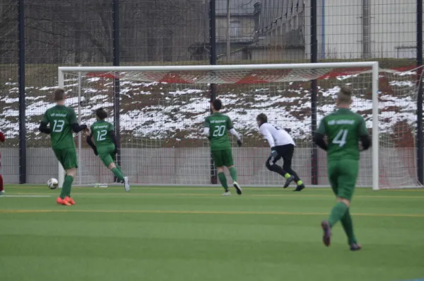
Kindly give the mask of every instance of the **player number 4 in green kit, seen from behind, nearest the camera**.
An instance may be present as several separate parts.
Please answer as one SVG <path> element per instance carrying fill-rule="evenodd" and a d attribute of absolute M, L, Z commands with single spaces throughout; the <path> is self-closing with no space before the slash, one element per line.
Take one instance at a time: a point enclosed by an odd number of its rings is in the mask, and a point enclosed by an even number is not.
<path fill-rule="evenodd" d="M 326 115 L 320 122 L 314 134 L 317 146 L 327 151 L 327 172 L 331 188 L 336 195 L 329 218 L 321 223 L 324 231 L 323 242 L 329 246 L 331 242 L 331 228 L 341 221 L 351 251 L 360 250 L 353 233 L 353 223 L 349 207 L 359 170 L 359 152 L 371 146 L 365 120 L 362 116 L 353 113 L 351 108 L 351 89 L 343 87 L 337 94 L 337 110 Z M 327 137 L 327 140 L 324 137 Z"/>

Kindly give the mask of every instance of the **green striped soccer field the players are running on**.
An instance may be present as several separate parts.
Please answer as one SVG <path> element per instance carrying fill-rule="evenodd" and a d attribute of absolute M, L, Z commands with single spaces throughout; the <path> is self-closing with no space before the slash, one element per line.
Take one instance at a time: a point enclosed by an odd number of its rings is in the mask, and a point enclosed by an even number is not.
<path fill-rule="evenodd" d="M 7 186 L 0 197 L 0 280 L 413 280 L 424 278 L 424 190 L 357 190 L 363 250 L 341 225 L 322 244 L 329 189 Z"/>

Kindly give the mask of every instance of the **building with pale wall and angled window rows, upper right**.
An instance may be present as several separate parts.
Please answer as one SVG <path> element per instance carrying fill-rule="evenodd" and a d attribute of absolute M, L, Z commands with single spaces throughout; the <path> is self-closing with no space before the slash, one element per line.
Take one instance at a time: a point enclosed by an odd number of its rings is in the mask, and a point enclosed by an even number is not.
<path fill-rule="evenodd" d="M 261 56 L 270 59 L 309 58 L 310 4 L 311 0 L 257 1 L 258 40 L 252 50 L 267 50 Z M 317 45 L 319 59 L 414 58 L 416 1 L 317 0 Z"/>

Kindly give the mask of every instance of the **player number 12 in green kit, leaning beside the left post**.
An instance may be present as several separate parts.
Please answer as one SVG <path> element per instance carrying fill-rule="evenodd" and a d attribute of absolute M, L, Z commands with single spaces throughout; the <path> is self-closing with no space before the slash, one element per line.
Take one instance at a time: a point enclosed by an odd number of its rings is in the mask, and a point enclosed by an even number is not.
<path fill-rule="evenodd" d="M 93 149 L 94 154 L 99 156 L 103 164 L 109 168 L 119 182 L 124 183 L 125 191 L 129 192 L 128 177 L 122 174 L 121 168 L 114 164 L 114 156 L 117 154 L 117 139 L 114 135 L 114 127 L 110 122 L 105 121 L 107 112 L 103 108 L 95 110 L 97 121 L 90 127 L 90 135 L 87 143 Z M 91 139 L 94 139 L 95 144 Z"/>

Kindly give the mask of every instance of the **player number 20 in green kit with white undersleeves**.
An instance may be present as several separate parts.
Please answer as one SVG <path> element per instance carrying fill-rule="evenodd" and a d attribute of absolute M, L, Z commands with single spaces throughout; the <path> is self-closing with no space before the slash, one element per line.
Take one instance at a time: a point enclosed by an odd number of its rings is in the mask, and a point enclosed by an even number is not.
<path fill-rule="evenodd" d="M 213 161 L 215 162 L 216 170 L 218 171 L 218 179 L 223 185 L 225 192 L 224 196 L 231 195 L 228 190 L 227 178 L 224 173 L 224 166 L 230 171 L 232 178 L 232 185 L 235 187 L 238 195 L 242 194 L 242 188 L 237 183 L 237 170 L 234 167 L 232 160 L 232 151 L 230 139 L 228 139 L 228 132 L 237 138 L 237 144 L 242 146 L 242 140 L 239 134 L 232 127 L 230 117 L 220 113 L 223 103 L 220 100 L 215 100 L 211 103 L 212 115 L 206 117 L 204 122 L 204 134 L 208 136 L 211 141 L 211 153 Z"/>

